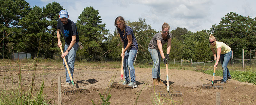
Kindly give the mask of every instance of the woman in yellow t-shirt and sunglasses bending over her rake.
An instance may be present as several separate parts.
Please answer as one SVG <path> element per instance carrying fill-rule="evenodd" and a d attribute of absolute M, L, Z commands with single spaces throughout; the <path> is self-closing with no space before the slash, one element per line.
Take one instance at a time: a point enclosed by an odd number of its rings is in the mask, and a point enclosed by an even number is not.
<path fill-rule="evenodd" d="M 229 69 L 227 67 L 227 64 L 229 63 L 229 60 L 232 55 L 231 48 L 223 42 L 216 41 L 213 35 L 210 35 L 209 43 L 210 43 L 210 48 L 213 52 L 214 61 L 216 61 L 214 64 L 214 67 L 217 67 L 219 60 L 222 65 L 223 79 L 220 83 L 221 84 L 226 83 L 227 79 L 232 78 L 229 73 Z M 217 51 L 217 56 L 216 56 L 216 51 Z"/>

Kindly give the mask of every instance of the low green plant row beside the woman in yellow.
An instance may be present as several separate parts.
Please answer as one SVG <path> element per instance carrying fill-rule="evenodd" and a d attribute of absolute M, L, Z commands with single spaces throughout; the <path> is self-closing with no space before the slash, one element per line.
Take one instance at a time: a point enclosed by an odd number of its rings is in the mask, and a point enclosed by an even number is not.
<path fill-rule="evenodd" d="M 249 82 L 256 85 L 256 72 L 255 71 L 238 71 L 238 70 L 229 70 L 232 79 L 236 79 L 241 82 Z M 213 75 L 213 70 L 206 70 L 204 73 Z M 215 76 L 223 76 L 222 70 L 216 70 Z"/>

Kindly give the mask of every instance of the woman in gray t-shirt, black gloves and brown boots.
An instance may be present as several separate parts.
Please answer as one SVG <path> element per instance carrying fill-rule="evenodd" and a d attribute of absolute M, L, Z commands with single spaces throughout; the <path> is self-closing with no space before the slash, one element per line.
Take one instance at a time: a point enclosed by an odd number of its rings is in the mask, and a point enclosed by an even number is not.
<path fill-rule="evenodd" d="M 152 78 L 153 85 L 164 84 L 160 79 L 160 61 L 168 64 L 169 53 L 171 50 L 171 33 L 169 32 L 170 26 L 167 23 L 162 25 L 162 32 L 156 33 L 149 42 L 148 50 L 153 60 Z M 166 55 L 163 52 L 163 45 L 167 43 Z M 169 65 L 169 64 L 168 64 Z"/>

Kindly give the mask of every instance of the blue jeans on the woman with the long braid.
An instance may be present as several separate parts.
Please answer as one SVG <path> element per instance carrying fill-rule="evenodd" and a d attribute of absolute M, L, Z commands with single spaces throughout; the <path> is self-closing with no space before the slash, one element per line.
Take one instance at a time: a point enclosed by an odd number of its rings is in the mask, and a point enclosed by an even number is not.
<path fill-rule="evenodd" d="M 131 82 L 135 82 L 135 69 L 133 66 L 133 62 L 135 60 L 136 54 L 137 54 L 137 49 L 131 49 L 129 52 L 126 51 L 124 53 L 124 58 L 123 58 L 123 72 L 124 72 L 124 77 L 126 82 L 130 82 L 130 76 L 129 76 L 129 70 L 131 73 Z"/>

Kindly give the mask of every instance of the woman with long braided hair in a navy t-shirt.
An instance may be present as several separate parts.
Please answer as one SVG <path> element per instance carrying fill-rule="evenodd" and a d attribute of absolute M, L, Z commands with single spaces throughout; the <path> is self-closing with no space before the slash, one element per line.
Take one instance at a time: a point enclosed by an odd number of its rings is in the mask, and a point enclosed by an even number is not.
<path fill-rule="evenodd" d="M 117 27 L 118 35 L 120 36 L 120 40 L 121 42 L 123 42 L 124 46 L 124 50 L 121 53 L 121 56 L 123 57 L 123 71 L 125 77 L 123 85 L 128 84 L 128 86 L 135 88 L 137 87 L 137 85 L 135 83 L 135 69 L 133 67 L 133 62 L 138 51 L 137 40 L 133 34 L 133 30 L 126 25 L 126 22 L 122 16 L 118 16 L 116 18 L 115 26 Z M 129 70 L 131 75 L 131 81 L 129 76 Z"/>

